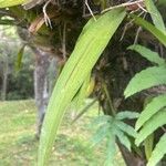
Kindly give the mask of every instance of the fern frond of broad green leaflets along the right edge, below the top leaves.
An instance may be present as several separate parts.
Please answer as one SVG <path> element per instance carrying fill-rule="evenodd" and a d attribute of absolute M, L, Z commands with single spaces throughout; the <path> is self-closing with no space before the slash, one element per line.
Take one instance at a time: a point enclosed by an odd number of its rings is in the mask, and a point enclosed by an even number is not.
<path fill-rule="evenodd" d="M 128 83 L 124 94 L 126 97 L 146 90 L 148 87 L 166 84 L 166 63 L 159 55 L 155 52 L 152 52 L 148 49 L 145 49 L 141 45 L 132 45 L 129 49 L 137 51 L 149 60 L 151 62 L 157 63 L 159 66 L 147 68 L 146 70 L 141 71 L 136 74 L 132 81 Z M 159 75 L 159 76 L 158 76 Z M 160 137 L 159 143 L 156 145 L 156 148 L 153 151 L 153 139 L 154 132 L 166 124 L 166 110 L 165 110 L 166 95 L 159 95 L 154 97 L 143 110 L 139 115 L 139 118 L 136 122 L 136 131 L 139 129 L 135 144 L 139 145 L 143 141 L 145 144 L 145 154 L 147 159 L 149 158 L 148 166 L 155 166 L 166 153 L 164 145 L 166 137 Z M 163 147 L 162 147 L 163 146 Z"/>

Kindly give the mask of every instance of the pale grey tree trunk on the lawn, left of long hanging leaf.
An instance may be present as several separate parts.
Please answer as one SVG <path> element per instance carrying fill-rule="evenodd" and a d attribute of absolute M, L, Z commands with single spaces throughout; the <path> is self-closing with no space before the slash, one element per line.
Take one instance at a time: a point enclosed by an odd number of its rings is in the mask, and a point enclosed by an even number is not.
<path fill-rule="evenodd" d="M 48 100 L 48 69 L 50 64 L 49 54 L 39 49 L 32 49 L 35 53 L 35 69 L 34 69 L 34 98 L 38 108 L 38 131 L 37 136 L 40 136 Z"/>

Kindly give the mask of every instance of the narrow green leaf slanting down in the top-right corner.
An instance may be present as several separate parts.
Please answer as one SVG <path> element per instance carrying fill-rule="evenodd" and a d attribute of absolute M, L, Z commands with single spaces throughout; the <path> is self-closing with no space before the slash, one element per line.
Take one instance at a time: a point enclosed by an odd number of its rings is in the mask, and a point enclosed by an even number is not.
<path fill-rule="evenodd" d="M 165 29 L 163 18 L 159 11 L 157 10 L 156 6 L 154 4 L 153 0 L 145 0 L 145 6 L 147 11 L 151 13 L 155 27 L 166 34 L 166 29 Z"/>

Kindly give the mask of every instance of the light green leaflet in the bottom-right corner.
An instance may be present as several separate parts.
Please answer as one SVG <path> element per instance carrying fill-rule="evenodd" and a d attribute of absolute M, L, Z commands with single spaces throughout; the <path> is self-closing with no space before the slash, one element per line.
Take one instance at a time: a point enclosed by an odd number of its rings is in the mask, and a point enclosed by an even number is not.
<path fill-rule="evenodd" d="M 156 166 L 157 163 L 164 157 L 166 154 L 166 134 L 164 134 L 159 142 L 157 143 L 153 154 L 147 163 L 147 166 Z"/>

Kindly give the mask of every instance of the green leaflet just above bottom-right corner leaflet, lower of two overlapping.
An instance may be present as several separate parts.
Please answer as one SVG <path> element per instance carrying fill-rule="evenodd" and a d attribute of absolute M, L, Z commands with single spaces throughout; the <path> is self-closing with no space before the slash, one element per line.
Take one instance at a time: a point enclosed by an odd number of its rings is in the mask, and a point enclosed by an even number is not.
<path fill-rule="evenodd" d="M 158 127 L 166 124 L 166 110 L 159 111 L 151 120 L 148 120 L 141 132 L 137 134 L 135 144 L 139 145 L 149 134 L 155 132 Z"/>

